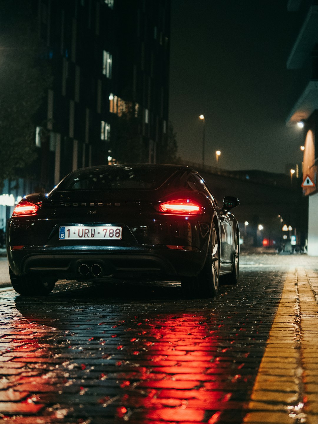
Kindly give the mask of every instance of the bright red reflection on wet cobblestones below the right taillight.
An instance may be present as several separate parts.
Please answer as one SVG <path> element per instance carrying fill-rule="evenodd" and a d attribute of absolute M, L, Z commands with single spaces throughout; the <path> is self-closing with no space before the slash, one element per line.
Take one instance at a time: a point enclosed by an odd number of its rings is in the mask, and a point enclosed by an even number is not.
<path fill-rule="evenodd" d="M 127 408 L 123 417 L 136 423 L 217 423 L 220 410 L 229 408 L 231 393 L 216 381 L 225 370 L 215 358 L 218 340 L 209 334 L 205 318 L 190 313 L 164 315 L 148 325 L 139 340 L 140 366 L 130 376 L 134 391 L 122 399 Z M 133 354 L 134 343 L 132 338 Z M 129 378 L 128 374 L 121 377 Z M 234 403 L 232 407 L 237 406 Z"/>

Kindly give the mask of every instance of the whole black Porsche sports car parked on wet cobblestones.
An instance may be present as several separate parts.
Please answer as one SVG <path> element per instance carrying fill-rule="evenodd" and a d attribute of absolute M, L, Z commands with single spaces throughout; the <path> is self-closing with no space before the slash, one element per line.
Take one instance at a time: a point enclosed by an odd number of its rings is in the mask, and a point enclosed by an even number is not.
<path fill-rule="evenodd" d="M 76 170 L 50 193 L 25 196 L 8 222 L 14 290 L 47 295 L 58 279 L 181 280 L 212 297 L 219 277 L 236 284 L 239 228 L 199 174 L 179 165 L 103 165 Z"/>

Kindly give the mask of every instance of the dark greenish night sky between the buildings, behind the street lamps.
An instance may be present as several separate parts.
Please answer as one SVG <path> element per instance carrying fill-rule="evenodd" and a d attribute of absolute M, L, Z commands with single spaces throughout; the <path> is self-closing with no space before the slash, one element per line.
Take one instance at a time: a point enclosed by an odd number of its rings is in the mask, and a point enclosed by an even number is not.
<path fill-rule="evenodd" d="M 181 159 L 285 172 L 301 162 L 301 131 L 285 126 L 297 94 L 286 69 L 296 38 L 287 0 L 172 0 L 170 120 Z M 295 88 L 296 86 L 296 88 Z"/>

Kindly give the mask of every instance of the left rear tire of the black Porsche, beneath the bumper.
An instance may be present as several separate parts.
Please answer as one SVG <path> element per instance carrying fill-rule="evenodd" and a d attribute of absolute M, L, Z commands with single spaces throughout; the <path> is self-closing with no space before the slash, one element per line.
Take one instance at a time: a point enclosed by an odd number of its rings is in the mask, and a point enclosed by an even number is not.
<path fill-rule="evenodd" d="M 54 277 L 36 275 L 15 275 L 9 267 L 12 287 L 21 296 L 47 296 L 56 283 Z"/>

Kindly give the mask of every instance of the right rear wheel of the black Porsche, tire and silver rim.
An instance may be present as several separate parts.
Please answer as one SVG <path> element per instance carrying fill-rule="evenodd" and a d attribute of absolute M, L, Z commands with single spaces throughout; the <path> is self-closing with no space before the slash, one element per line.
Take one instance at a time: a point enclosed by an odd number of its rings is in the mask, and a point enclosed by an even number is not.
<path fill-rule="evenodd" d="M 209 298 L 218 294 L 220 274 L 220 245 L 215 223 L 212 223 L 211 238 L 204 267 L 198 276 L 181 278 L 185 296 Z"/>

